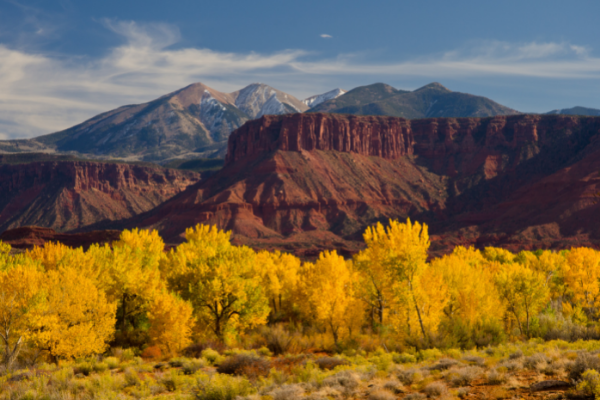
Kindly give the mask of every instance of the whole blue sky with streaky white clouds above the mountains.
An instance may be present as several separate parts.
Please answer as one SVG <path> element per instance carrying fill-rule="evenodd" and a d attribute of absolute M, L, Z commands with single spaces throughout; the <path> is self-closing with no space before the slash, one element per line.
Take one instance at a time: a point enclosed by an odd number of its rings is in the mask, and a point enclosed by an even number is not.
<path fill-rule="evenodd" d="M 0 0 L 0 139 L 194 82 L 304 99 L 440 82 L 523 112 L 600 109 L 597 0 Z"/>

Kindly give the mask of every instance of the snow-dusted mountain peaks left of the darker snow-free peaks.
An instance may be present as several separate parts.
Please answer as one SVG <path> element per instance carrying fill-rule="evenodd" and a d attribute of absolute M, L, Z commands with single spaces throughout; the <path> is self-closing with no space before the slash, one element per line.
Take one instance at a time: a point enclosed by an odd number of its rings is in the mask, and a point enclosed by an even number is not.
<path fill-rule="evenodd" d="M 149 103 L 97 115 L 61 132 L 0 142 L 0 151 L 50 151 L 151 162 L 223 158 L 229 134 L 244 122 L 307 109 L 295 97 L 264 84 L 222 93 L 195 83 Z"/>

